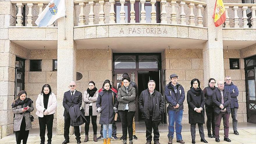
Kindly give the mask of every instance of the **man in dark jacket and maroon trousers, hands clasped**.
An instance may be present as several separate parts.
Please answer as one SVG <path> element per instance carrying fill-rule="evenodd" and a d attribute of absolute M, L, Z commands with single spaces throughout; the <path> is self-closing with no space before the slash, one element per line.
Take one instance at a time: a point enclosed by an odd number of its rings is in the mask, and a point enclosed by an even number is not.
<path fill-rule="evenodd" d="M 221 118 L 223 118 L 224 141 L 231 142 L 228 138 L 231 97 L 229 91 L 224 89 L 223 81 L 218 81 L 218 89 L 214 91 L 212 100 L 214 102 L 214 113 L 216 114 L 215 141 L 220 142 L 219 131 Z"/>

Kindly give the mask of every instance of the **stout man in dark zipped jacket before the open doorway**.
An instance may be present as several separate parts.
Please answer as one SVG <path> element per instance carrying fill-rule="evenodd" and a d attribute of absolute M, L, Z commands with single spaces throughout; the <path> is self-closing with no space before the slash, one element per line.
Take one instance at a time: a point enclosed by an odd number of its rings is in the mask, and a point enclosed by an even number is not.
<path fill-rule="evenodd" d="M 160 144 L 158 125 L 160 124 L 160 120 L 162 118 L 161 115 L 164 109 L 163 96 L 155 90 L 155 81 L 150 80 L 147 83 L 147 86 L 148 89 L 143 90 L 138 99 L 138 107 L 142 112 L 142 118 L 144 118 L 146 124 L 146 144 L 151 144 L 152 128 L 154 130 L 154 144 Z"/>

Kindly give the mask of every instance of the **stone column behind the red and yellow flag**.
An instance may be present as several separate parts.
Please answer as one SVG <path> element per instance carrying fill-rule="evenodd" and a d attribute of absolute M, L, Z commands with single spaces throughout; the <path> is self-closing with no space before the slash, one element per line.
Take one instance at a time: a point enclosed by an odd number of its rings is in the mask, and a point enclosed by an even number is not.
<path fill-rule="evenodd" d="M 205 16 L 208 27 L 208 41 L 204 43 L 203 62 L 204 62 L 204 86 L 207 86 L 210 78 L 224 80 L 224 60 L 223 60 L 223 40 L 222 26 L 217 27 L 218 35 L 216 38 L 216 27 L 212 19 L 215 1 L 207 1 Z M 216 85 L 217 86 L 217 85 Z"/>

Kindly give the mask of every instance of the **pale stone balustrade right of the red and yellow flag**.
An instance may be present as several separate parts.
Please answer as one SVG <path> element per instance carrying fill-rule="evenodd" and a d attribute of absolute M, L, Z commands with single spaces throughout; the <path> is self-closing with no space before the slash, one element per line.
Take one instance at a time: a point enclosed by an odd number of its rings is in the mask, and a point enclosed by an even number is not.
<path fill-rule="evenodd" d="M 226 21 L 223 27 L 251 28 L 256 27 L 255 3 L 224 3 L 226 9 Z M 229 17 L 229 15 L 232 15 Z M 247 15 L 250 15 L 249 18 Z"/>

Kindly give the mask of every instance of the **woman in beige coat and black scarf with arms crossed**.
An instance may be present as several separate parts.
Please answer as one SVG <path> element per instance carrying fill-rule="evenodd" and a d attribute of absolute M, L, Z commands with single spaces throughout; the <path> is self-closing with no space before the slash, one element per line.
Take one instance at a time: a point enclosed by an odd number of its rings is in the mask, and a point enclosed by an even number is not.
<path fill-rule="evenodd" d="M 85 123 L 85 139 L 84 142 L 87 142 L 89 140 L 89 125 L 90 125 L 90 117 L 92 119 L 93 124 L 93 141 L 97 141 L 97 115 L 96 112 L 96 102 L 98 99 L 98 90 L 95 87 L 95 83 L 93 81 L 90 81 L 88 84 L 88 89 L 84 91 L 83 93 L 83 102 L 84 102 L 84 112 L 85 112 L 85 118 L 87 122 Z"/>

